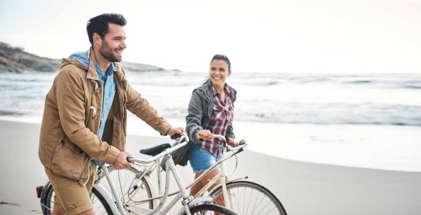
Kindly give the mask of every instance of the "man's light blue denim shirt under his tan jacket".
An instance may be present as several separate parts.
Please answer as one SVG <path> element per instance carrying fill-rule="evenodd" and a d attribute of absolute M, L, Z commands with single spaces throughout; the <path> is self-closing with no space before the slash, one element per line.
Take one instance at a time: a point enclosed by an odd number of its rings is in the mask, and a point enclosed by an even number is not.
<path fill-rule="evenodd" d="M 89 53 L 78 52 L 73 53 L 69 58 L 79 61 L 86 68 L 89 68 Z M 102 138 L 104 133 L 105 122 L 107 121 L 108 112 L 110 112 L 111 105 L 113 105 L 114 95 L 115 95 L 115 82 L 114 82 L 114 72 L 118 72 L 118 68 L 114 66 L 113 63 L 110 63 L 110 66 L 107 68 L 105 74 L 101 70 L 98 62 L 95 63 L 95 70 L 98 74 L 98 78 L 103 84 L 103 112 L 101 113 L 100 128 L 98 130 L 98 137 Z M 102 166 L 101 162 L 93 161 L 98 166 Z"/>

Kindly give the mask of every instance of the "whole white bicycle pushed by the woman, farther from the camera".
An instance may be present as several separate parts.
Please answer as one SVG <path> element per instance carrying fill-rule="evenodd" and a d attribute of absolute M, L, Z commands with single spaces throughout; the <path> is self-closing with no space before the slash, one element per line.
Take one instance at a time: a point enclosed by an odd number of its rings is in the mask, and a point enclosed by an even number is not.
<path fill-rule="evenodd" d="M 209 173 L 211 169 L 220 164 L 221 172 L 212 178 L 204 186 L 204 188 L 195 195 L 195 197 L 205 194 L 209 187 L 212 187 L 213 184 L 217 183 L 219 178 L 222 178 L 222 183 L 209 192 L 209 196 L 214 196 L 214 199 L 218 199 L 219 196 L 224 196 L 224 199 L 229 199 L 229 201 L 224 202 L 224 206 L 228 209 L 231 209 L 237 214 L 286 214 L 286 210 L 281 204 L 281 201 L 279 201 L 279 199 L 270 192 L 269 189 L 266 189 L 266 187 L 255 182 L 245 180 L 248 179 L 248 177 L 228 179 L 224 162 L 232 157 L 236 157 L 237 159 L 237 154 L 243 152 L 244 147 L 246 147 L 246 142 L 243 140 L 240 142 L 241 145 L 238 147 L 230 147 L 227 145 L 227 141 L 224 136 L 214 135 L 214 138 L 218 138 L 222 141 L 222 152 L 219 153 L 219 161 L 204 172 L 204 174 L 200 177 L 194 179 L 194 181 L 189 184 L 186 189 L 199 182 L 199 180 Z M 224 154 L 227 151 L 232 154 L 224 157 Z M 155 194 L 155 190 L 153 189 L 150 179 L 155 170 L 158 178 L 158 195 Z M 153 209 L 157 206 L 157 200 L 163 197 L 160 179 L 161 171 L 158 161 L 150 166 L 140 166 L 132 169 L 124 169 L 123 171 L 113 171 L 113 169 L 110 169 L 110 172 L 113 174 L 113 179 L 115 179 L 115 182 L 117 183 L 122 181 L 131 181 L 130 184 L 122 184 L 119 190 L 120 198 L 125 199 L 125 203 L 128 205 L 143 204 L 145 206 L 145 204 L 147 204 L 150 209 Z M 103 177 L 98 177 L 98 183 L 100 184 L 101 179 L 103 179 Z M 173 196 L 175 194 L 178 194 L 178 192 L 172 192 L 171 194 L 168 194 L 168 196 Z"/>

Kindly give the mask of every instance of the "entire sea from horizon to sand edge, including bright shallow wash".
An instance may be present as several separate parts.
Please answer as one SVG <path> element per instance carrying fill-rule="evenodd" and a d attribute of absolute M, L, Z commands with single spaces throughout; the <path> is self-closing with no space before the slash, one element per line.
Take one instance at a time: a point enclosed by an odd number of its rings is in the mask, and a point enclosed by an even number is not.
<path fill-rule="evenodd" d="M 0 120 L 41 123 L 56 73 L 1 73 Z M 174 126 L 207 73 L 126 72 Z M 232 73 L 234 132 L 248 149 L 284 159 L 421 171 L 421 73 Z M 158 132 L 128 117 L 129 135 Z"/>

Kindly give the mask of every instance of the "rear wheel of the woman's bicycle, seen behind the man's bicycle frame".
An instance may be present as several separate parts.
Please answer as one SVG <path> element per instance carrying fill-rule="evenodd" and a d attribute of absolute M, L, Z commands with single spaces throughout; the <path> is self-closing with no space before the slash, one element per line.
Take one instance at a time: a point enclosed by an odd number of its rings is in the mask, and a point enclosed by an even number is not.
<path fill-rule="evenodd" d="M 153 201 L 145 201 L 152 197 L 152 184 L 145 177 L 140 178 L 142 172 L 135 167 L 114 169 L 113 166 L 109 166 L 108 171 L 127 214 L 135 214 L 137 210 L 142 211 L 142 209 L 153 209 Z M 105 192 L 113 196 L 110 185 L 100 169 L 95 183 L 101 184 Z"/>

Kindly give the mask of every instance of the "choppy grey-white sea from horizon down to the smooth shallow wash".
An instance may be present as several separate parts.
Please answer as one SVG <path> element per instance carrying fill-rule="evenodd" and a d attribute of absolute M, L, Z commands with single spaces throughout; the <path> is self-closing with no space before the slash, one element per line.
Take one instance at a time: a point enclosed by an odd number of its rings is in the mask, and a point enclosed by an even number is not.
<path fill-rule="evenodd" d="M 0 77 L 0 110 L 42 114 L 54 74 Z M 206 73 L 128 73 L 130 84 L 165 117 L 184 118 Z M 421 126 L 420 74 L 236 73 L 235 119 L 292 124 Z M 374 90 L 373 90 L 374 89 Z M 172 95 L 172 96 L 169 96 Z"/>

